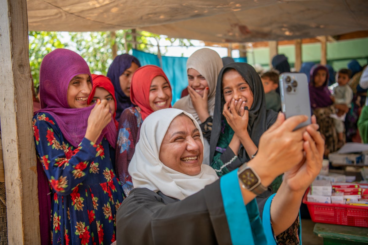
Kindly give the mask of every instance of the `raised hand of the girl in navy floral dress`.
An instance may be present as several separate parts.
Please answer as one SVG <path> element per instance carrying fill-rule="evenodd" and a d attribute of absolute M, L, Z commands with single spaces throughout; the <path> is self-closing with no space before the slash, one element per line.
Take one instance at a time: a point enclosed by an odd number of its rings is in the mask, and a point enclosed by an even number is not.
<path fill-rule="evenodd" d="M 93 107 L 91 114 L 88 117 L 88 125 L 85 138 L 96 143 L 102 130 L 111 121 L 112 116 L 107 100 L 97 100 L 95 107 Z"/>

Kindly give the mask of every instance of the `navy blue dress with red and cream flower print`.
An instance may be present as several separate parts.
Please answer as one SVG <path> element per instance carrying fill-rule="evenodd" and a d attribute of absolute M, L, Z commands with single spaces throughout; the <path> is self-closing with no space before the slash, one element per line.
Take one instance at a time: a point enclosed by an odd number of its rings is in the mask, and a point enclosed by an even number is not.
<path fill-rule="evenodd" d="M 74 148 L 45 112 L 33 117 L 32 126 L 37 156 L 52 187 L 53 244 L 114 242 L 116 211 L 124 194 L 109 142 L 104 138 L 96 145 L 84 138 Z"/>

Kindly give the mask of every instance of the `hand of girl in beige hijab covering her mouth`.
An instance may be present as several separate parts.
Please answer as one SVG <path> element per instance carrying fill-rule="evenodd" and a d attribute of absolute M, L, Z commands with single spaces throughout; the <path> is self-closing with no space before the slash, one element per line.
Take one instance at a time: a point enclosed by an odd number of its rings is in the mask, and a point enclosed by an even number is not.
<path fill-rule="evenodd" d="M 192 100 L 194 109 L 197 112 L 199 120 L 201 120 L 201 122 L 205 122 L 207 118 L 209 118 L 208 92 L 209 92 L 209 88 L 206 87 L 203 91 L 203 97 L 202 97 L 191 86 L 188 86 L 188 94 Z"/>

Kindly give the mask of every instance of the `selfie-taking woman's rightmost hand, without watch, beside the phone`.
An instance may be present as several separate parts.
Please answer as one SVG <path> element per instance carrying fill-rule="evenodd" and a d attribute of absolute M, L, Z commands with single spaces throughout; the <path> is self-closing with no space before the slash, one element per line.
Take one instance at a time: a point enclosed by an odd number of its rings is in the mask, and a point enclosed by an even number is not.
<path fill-rule="evenodd" d="M 318 130 L 315 116 L 303 133 L 304 159 L 284 174 L 284 181 L 290 191 L 304 191 L 321 171 L 325 141 Z"/>

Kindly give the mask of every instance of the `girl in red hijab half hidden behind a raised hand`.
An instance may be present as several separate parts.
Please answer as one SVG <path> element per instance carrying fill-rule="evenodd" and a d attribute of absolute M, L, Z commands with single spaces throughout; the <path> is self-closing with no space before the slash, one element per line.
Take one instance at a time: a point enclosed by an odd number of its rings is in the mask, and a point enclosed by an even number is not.
<path fill-rule="evenodd" d="M 110 78 L 103 75 L 92 74 L 93 87 L 91 94 L 89 94 L 87 103 L 93 105 L 98 99 L 107 100 L 107 104 L 110 107 L 111 114 L 113 115 L 114 123 L 116 128 L 118 127 L 118 122 L 115 119 L 116 116 L 116 98 L 115 89 L 111 83 Z"/>

